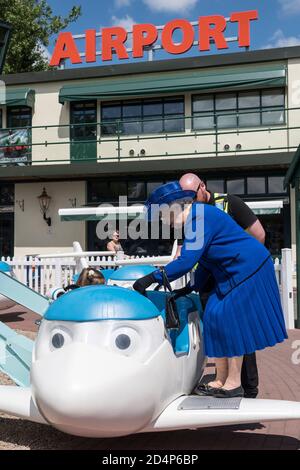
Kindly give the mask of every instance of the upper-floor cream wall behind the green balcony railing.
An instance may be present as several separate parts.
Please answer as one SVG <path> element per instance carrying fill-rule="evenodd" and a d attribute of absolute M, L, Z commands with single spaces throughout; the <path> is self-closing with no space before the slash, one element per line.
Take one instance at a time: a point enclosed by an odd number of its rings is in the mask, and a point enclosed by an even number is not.
<path fill-rule="evenodd" d="M 267 65 L 261 64 L 261 66 Z M 239 66 L 239 69 L 243 66 Z M 247 66 L 244 66 L 247 67 Z M 232 70 L 233 67 L 217 67 L 212 69 L 213 73 L 215 70 L 218 73 L 222 71 Z M 167 72 L 165 75 L 168 75 Z M 140 75 L 141 78 L 146 74 Z M 147 76 L 147 75 L 146 75 Z M 288 62 L 288 96 L 287 96 L 287 105 L 295 106 L 295 96 L 299 98 L 298 106 L 300 107 L 300 85 L 299 92 L 295 93 L 294 87 L 297 85 L 297 80 L 300 80 L 300 59 L 290 60 Z M 112 77 L 111 81 L 118 82 L 120 77 Z M 41 83 L 41 84 L 31 84 L 28 87 L 35 89 L 36 91 L 36 101 L 35 108 L 33 113 L 33 126 L 51 126 L 55 124 L 69 124 L 70 119 L 70 105 L 66 103 L 61 105 L 58 101 L 59 90 L 62 86 L 67 85 L 86 85 L 97 82 L 97 80 L 73 80 L 73 81 L 64 81 L 64 82 L 51 82 L 51 83 Z M 14 87 L 10 87 L 13 89 Z M 164 96 L 164 95 L 161 95 Z M 170 94 L 168 95 L 170 96 Z M 186 95 L 186 115 L 191 114 L 191 94 L 187 93 Z M 130 98 L 130 97 L 128 97 Z M 100 119 L 100 106 L 101 102 L 98 101 L 98 119 Z M 288 116 L 288 121 L 290 125 L 296 125 L 300 122 L 300 110 L 297 112 L 290 113 Z M 246 129 L 243 129 L 245 131 Z M 254 129 L 252 128 L 251 131 Z M 226 130 L 229 132 L 230 130 Z M 141 149 L 145 149 L 146 156 L 151 155 L 163 155 L 165 158 L 170 158 L 168 154 L 189 154 L 191 157 L 195 156 L 196 152 L 203 152 L 204 155 L 214 155 L 215 153 L 215 141 L 216 137 L 214 132 L 209 136 L 195 136 L 191 131 L 191 122 L 186 121 L 186 132 L 187 137 L 178 139 L 172 138 L 172 134 L 168 138 L 165 135 L 161 135 L 158 139 L 146 140 L 145 138 L 140 138 L 139 141 L 122 141 L 121 155 L 124 157 L 129 157 L 129 151 L 134 150 L 135 156 L 134 159 L 140 157 Z M 69 161 L 70 158 L 70 148 L 68 144 L 63 144 L 69 140 L 70 133 L 69 128 L 42 128 L 42 129 L 33 129 L 33 143 L 44 143 L 44 142 L 60 142 L 56 145 L 48 146 L 33 146 L 33 163 L 38 161 L 43 161 L 45 164 L 53 162 L 53 160 Z M 134 136 L 132 136 L 134 137 Z M 144 137 L 144 136 L 142 136 Z M 98 138 L 100 138 L 100 130 L 98 129 Z M 111 138 L 111 137 L 110 137 Z M 107 138 L 101 138 L 100 143 L 97 148 L 97 156 L 101 156 L 102 159 L 105 158 L 117 158 L 117 144 L 116 142 L 107 142 Z M 287 147 L 290 143 L 291 146 L 298 145 L 300 141 L 300 131 L 294 130 L 290 131 L 289 134 L 286 130 L 284 131 L 272 131 L 272 129 L 267 129 L 264 132 L 251 132 L 247 133 L 238 133 L 236 130 L 232 130 L 232 133 L 227 133 L 226 135 L 219 134 L 218 136 L 218 151 L 220 155 L 225 155 L 224 146 L 228 144 L 230 150 L 234 153 L 230 153 L 233 157 L 235 155 L 249 153 L 251 149 L 253 154 L 255 153 L 265 153 L 260 149 L 274 149 L 274 152 L 277 152 L 278 149 Z M 236 152 L 236 145 L 240 144 L 242 146 L 242 151 Z M 206 154 L 206 155 L 205 155 Z M 180 157 L 179 157 L 180 158 Z M 201 155 L 199 155 L 201 158 Z M 58 162 L 58 163 L 59 163 Z"/>

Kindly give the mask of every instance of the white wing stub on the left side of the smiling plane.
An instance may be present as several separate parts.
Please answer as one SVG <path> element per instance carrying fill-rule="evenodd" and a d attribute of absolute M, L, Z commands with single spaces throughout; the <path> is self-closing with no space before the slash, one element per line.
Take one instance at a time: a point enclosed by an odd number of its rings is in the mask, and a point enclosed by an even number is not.
<path fill-rule="evenodd" d="M 0 411 L 35 423 L 48 424 L 35 406 L 30 388 L 0 386 Z"/>

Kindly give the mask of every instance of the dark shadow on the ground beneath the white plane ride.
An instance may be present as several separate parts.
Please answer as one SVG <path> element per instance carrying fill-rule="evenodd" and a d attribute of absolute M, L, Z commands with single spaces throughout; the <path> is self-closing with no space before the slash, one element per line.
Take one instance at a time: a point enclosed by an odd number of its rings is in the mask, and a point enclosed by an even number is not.
<path fill-rule="evenodd" d="M 69 436 L 41 424 L 15 418 L 0 418 L 0 448 L 64 450 L 299 450 L 296 438 L 255 431 L 263 424 L 228 426 L 198 431 L 176 431 L 110 439 Z M 247 432 L 249 431 L 249 432 Z"/>

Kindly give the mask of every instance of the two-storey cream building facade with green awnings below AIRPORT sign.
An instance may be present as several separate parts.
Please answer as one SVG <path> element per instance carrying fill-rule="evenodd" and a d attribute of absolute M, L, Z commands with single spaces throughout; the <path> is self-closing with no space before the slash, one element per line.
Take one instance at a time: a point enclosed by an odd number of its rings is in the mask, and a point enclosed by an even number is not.
<path fill-rule="evenodd" d="M 58 209 L 142 202 L 187 171 L 257 202 L 279 255 L 295 244 L 284 177 L 300 142 L 298 77 L 300 47 L 0 77 L 0 255 L 103 248 L 96 221 L 61 222 Z"/>

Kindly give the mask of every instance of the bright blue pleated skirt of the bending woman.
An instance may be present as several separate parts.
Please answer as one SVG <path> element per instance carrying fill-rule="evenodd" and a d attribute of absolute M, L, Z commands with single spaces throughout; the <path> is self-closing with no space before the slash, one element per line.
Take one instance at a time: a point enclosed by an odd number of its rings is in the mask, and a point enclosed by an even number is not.
<path fill-rule="evenodd" d="M 204 312 L 203 337 L 208 357 L 243 356 L 287 338 L 271 258 L 225 297 L 211 294 Z"/>

